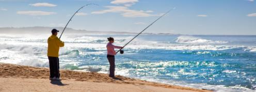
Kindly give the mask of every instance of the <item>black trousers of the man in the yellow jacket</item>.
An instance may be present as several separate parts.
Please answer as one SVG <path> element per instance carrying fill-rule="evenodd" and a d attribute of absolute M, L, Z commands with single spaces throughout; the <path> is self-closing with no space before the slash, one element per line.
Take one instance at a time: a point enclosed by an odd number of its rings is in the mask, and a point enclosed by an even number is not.
<path fill-rule="evenodd" d="M 58 57 L 48 57 L 50 66 L 50 78 L 59 78 L 59 58 Z"/>

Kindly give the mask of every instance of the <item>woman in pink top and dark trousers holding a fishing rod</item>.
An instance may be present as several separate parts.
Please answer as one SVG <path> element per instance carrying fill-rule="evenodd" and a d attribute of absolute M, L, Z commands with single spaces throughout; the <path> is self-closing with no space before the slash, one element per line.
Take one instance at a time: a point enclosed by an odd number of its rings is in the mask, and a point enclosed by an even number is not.
<path fill-rule="evenodd" d="M 123 47 L 118 47 L 116 45 L 113 45 L 112 44 L 112 43 L 114 43 L 113 37 L 109 37 L 109 38 L 107 38 L 107 40 L 109 41 L 106 46 L 107 47 L 107 60 L 110 64 L 109 77 L 115 77 L 115 55 L 116 55 L 115 48 L 122 49 Z"/>

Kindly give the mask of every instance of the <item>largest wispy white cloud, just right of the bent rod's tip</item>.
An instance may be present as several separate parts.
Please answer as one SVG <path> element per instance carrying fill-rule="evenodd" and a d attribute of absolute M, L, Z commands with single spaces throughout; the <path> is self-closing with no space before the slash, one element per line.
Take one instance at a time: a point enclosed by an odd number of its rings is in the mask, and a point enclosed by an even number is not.
<path fill-rule="evenodd" d="M 104 13 L 121 13 L 124 17 L 149 17 L 149 16 L 160 16 L 160 14 L 149 14 L 153 11 L 138 11 L 131 10 L 123 6 L 106 6 L 107 10 L 91 12 L 92 14 L 104 14 Z"/>

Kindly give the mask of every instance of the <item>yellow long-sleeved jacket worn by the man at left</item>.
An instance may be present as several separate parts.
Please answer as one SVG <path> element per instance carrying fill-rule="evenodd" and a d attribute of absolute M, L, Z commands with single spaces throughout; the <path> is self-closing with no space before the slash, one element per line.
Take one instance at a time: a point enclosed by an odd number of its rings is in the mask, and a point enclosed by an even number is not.
<path fill-rule="evenodd" d="M 62 42 L 55 35 L 50 36 L 47 42 L 48 42 L 47 56 L 59 57 L 59 47 L 64 47 L 64 42 Z"/>

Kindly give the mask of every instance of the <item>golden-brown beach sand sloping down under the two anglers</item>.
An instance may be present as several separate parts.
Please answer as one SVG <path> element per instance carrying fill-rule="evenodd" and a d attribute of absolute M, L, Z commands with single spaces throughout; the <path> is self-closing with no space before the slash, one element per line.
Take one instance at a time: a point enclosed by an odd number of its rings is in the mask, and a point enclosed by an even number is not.
<path fill-rule="evenodd" d="M 62 81 L 50 81 L 49 68 L 0 63 L 0 91 L 211 91 L 101 73 L 60 70 L 60 75 Z"/>

